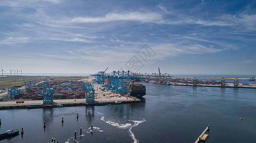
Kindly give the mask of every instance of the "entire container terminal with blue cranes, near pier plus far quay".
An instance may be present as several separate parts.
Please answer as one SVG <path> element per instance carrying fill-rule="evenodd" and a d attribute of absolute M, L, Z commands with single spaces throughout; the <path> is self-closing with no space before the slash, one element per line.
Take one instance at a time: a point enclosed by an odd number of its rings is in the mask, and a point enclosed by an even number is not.
<path fill-rule="evenodd" d="M 91 74 L 90 77 L 2 77 L 2 89 L 3 79 L 7 86 L 0 93 L 0 109 L 27 108 L 32 105 L 90 106 L 140 102 L 139 97 L 146 94 L 146 87 L 134 81 L 165 85 L 256 88 L 253 83 L 239 83 L 238 78 L 233 78 L 234 82 L 225 82 L 225 78 L 215 81 L 199 80 L 200 77 L 174 77 L 167 73 L 162 74 L 159 68 L 158 74 L 105 71 Z"/>

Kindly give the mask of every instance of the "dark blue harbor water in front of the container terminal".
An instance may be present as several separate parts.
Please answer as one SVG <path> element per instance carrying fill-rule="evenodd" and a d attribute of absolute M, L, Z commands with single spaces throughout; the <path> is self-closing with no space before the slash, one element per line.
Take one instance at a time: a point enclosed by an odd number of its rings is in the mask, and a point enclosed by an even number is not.
<path fill-rule="evenodd" d="M 139 103 L 1 110 L 0 133 L 24 134 L 0 143 L 194 143 L 208 124 L 206 143 L 256 142 L 256 89 L 140 83 Z"/>

